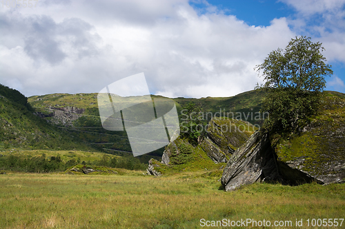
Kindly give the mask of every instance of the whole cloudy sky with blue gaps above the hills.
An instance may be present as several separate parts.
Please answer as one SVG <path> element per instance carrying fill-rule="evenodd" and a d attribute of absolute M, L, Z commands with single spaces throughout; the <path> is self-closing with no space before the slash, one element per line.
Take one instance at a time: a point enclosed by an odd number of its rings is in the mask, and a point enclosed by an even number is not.
<path fill-rule="evenodd" d="M 326 89 L 345 93 L 345 0 L 30 3 L 0 4 L 0 83 L 26 96 L 95 93 L 141 72 L 151 94 L 235 96 L 295 36 L 322 42 Z"/>

